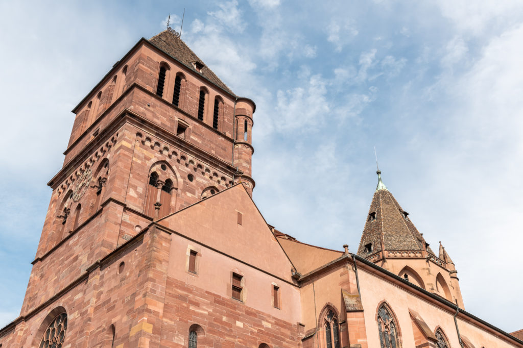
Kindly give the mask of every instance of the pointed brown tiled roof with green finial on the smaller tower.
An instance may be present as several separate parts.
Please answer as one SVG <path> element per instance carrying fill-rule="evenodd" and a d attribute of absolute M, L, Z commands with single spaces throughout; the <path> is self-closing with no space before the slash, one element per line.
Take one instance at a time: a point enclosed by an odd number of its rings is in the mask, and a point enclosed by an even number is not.
<path fill-rule="evenodd" d="M 382 250 L 428 251 L 434 254 L 378 174 L 378 186 L 361 235 L 358 255 L 368 257 Z"/>

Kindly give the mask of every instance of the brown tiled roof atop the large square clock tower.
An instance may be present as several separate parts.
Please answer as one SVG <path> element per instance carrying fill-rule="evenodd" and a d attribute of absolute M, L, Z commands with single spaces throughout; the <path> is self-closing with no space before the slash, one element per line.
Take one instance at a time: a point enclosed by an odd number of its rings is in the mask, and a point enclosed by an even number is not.
<path fill-rule="evenodd" d="M 203 63 L 196 53 L 192 52 L 187 44 L 181 40 L 176 33 L 170 30 L 164 30 L 156 36 L 153 36 L 149 42 L 196 73 L 198 73 L 198 71 L 195 69 L 193 63 L 198 62 L 203 64 L 203 68 L 199 74 L 208 79 L 214 85 L 228 92 L 230 95 L 236 97 L 232 90 Z"/>

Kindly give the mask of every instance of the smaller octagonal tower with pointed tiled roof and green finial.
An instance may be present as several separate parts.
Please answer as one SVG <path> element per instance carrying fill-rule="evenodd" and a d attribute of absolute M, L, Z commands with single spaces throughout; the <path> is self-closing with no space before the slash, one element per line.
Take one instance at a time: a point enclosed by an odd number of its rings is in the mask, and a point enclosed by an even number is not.
<path fill-rule="evenodd" d="M 464 308 L 456 267 L 444 247 L 436 256 L 408 213 L 387 190 L 377 171 L 378 186 L 361 235 L 358 255 L 403 279 Z"/>

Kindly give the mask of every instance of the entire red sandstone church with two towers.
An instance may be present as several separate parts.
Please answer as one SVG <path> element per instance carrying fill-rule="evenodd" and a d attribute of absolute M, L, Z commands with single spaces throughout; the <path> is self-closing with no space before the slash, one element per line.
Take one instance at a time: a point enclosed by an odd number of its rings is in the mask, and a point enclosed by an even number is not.
<path fill-rule="evenodd" d="M 449 253 L 379 170 L 357 254 L 269 225 L 255 111 L 175 30 L 139 40 L 73 109 L 0 347 L 523 347 L 465 310 Z"/>

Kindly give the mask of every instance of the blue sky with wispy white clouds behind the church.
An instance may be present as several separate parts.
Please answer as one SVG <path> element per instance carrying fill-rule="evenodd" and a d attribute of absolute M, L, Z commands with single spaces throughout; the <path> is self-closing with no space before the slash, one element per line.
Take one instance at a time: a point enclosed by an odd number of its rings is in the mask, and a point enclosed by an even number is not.
<path fill-rule="evenodd" d="M 252 98 L 254 200 L 301 241 L 356 252 L 383 180 L 459 271 L 465 309 L 521 329 L 523 3 L 0 2 L 0 326 L 21 307 L 70 112 L 172 14 Z"/>

